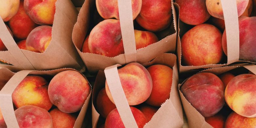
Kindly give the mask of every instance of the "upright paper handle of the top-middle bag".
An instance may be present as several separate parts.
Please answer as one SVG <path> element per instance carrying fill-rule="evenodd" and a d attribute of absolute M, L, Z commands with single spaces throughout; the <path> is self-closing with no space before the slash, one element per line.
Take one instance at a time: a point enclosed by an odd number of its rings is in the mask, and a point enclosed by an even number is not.
<path fill-rule="evenodd" d="M 132 1 L 118 0 L 118 11 L 125 61 L 126 63 L 136 62 L 137 54 L 133 28 Z"/>

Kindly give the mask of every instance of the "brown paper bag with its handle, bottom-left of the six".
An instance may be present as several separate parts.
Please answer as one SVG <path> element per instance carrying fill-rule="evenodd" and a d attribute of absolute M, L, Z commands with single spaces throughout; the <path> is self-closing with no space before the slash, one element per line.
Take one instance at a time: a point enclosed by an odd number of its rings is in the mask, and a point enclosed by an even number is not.
<path fill-rule="evenodd" d="M 11 79 L 6 83 L 4 88 L 0 91 L 0 107 L 2 110 L 2 114 L 4 117 L 4 120 L 7 124 L 7 127 L 10 128 L 19 128 L 18 122 L 16 120 L 15 114 L 14 114 L 14 109 L 13 109 L 13 103 L 12 103 L 12 92 L 14 89 L 18 86 L 18 84 L 27 76 L 27 75 L 40 75 L 40 76 L 48 76 L 48 77 L 53 77 L 59 72 L 67 71 L 67 70 L 74 70 L 75 69 L 57 69 L 57 70 L 50 70 L 50 71 L 32 71 L 32 70 L 23 70 L 20 72 L 15 73 Z M 82 73 L 81 73 L 82 74 Z M 1 74 L 1 77 L 4 76 L 4 74 Z M 85 114 L 87 111 L 87 108 L 89 106 L 89 103 L 91 102 L 91 93 L 92 90 L 87 97 L 81 111 L 79 112 L 79 115 L 75 121 L 75 126 L 74 128 L 81 128 Z M 86 120 L 86 119 L 85 119 Z"/>

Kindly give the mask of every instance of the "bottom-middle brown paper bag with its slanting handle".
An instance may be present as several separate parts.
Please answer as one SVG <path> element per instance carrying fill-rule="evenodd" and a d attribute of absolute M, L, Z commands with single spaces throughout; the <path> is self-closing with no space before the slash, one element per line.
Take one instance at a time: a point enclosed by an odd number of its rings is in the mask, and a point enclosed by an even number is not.
<path fill-rule="evenodd" d="M 144 126 L 144 128 L 181 128 L 183 124 L 183 115 L 181 101 L 177 90 L 179 78 L 176 64 L 176 56 L 174 54 L 164 53 L 161 56 L 155 58 L 153 61 L 143 64 L 143 66 L 148 67 L 154 64 L 162 64 L 171 67 L 173 69 L 173 82 L 170 92 L 170 99 L 166 100 L 166 102 L 161 105 L 159 110 L 156 112 L 153 118 Z M 96 97 L 98 92 L 105 86 L 105 75 L 107 77 L 108 85 L 112 87 L 111 94 L 114 98 L 118 112 L 121 116 L 122 121 L 124 122 L 125 127 L 138 127 L 130 110 L 124 92 L 119 91 L 119 89 L 122 90 L 122 86 L 117 72 L 117 65 L 114 65 L 106 68 L 105 73 L 103 71 L 99 71 L 96 77 L 92 96 L 93 128 L 97 127 L 97 122 L 99 120 L 99 113 L 96 111 L 95 107 Z M 110 82 L 115 84 L 113 85 Z"/>

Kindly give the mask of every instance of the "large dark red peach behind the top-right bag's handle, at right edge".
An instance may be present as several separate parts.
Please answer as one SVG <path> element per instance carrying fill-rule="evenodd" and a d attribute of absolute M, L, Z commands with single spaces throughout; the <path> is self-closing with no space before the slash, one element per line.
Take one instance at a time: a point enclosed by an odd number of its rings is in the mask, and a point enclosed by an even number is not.
<path fill-rule="evenodd" d="M 256 62 L 256 17 L 241 16 L 239 21 L 239 59 Z M 227 55 L 226 30 L 222 37 L 222 47 Z"/>

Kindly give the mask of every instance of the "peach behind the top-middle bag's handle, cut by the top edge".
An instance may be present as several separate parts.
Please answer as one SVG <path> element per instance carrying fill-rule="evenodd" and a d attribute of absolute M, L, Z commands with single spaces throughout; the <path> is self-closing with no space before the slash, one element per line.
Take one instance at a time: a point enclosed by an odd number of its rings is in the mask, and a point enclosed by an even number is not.
<path fill-rule="evenodd" d="M 118 0 L 96 0 L 96 8 L 104 19 L 116 18 L 119 20 Z M 142 0 L 132 1 L 133 20 L 139 15 Z"/>

